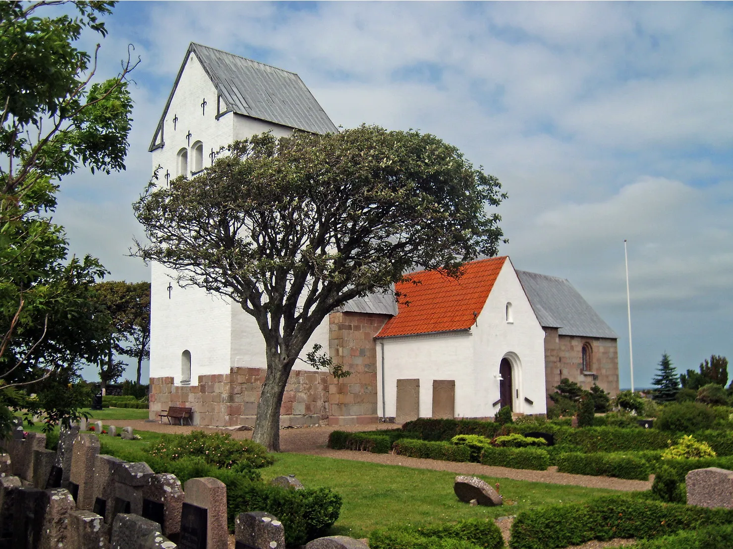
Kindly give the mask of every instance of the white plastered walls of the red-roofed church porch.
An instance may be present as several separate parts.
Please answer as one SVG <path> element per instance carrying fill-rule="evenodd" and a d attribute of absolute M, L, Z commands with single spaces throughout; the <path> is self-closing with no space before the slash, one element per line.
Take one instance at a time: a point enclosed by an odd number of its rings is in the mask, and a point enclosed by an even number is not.
<path fill-rule="evenodd" d="M 512 303 L 511 323 L 506 320 L 507 302 Z M 430 418 L 433 380 L 454 379 L 457 418 L 493 416 L 498 406 L 492 404 L 499 399 L 495 376 L 504 357 L 512 363 L 514 390 L 518 390 L 515 412 L 545 413 L 544 338 L 545 332 L 507 259 L 470 331 L 376 340 L 378 414 L 384 410 L 388 418 L 396 415 L 397 379 L 420 379 L 419 414 Z M 534 404 L 528 404 L 525 397 Z"/>

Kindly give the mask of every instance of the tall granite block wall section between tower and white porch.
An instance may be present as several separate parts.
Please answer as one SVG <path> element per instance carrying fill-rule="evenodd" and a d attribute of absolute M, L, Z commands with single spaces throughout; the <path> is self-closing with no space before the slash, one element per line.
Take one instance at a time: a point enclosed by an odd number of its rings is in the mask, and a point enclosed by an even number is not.
<path fill-rule="evenodd" d="M 334 364 L 351 372 L 349 377 L 329 376 L 328 424 L 377 423 L 377 345 L 375 335 L 388 315 L 331 313 L 329 352 Z"/>

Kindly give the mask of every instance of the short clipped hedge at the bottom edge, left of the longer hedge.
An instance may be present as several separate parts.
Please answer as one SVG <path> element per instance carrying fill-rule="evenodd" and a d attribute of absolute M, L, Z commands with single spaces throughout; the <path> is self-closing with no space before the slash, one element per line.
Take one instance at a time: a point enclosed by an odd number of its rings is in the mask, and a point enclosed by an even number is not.
<path fill-rule="evenodd" d="M 369 534 L 370 549 L 501 549 L 504 539 L 493 520 L 468 519 L 456 524 L 396 526 Z"/>

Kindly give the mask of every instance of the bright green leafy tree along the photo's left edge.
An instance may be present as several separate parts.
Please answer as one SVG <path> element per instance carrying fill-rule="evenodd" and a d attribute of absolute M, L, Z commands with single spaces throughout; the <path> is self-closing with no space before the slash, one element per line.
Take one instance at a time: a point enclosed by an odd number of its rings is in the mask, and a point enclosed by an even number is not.
<path fill-rule="evenodd" d="M 73 15 L 44 16 L 67 4 Z M 0 2 L 0 400 L 18 389 L 75 379 L 100 353 L 105 315 L 91 285 L 105 270 L 68 258 L 64 230 L 51 222 L 58 181 L 84 165 L 125 168 L 132 103 L 123 63 L 92 83 L 96 54 L 75 41 L 106 35 L 114 2 Z M 54 11 L 57 14 L 58 11 Z M 99 46 L 97 46 L 97 49 Z M 51 401 L 53 399 L 49 399 Z M 67 407 L 68 409 L 68 407 Z M 63 417 L 67 417 L 62 414 Z M 0 421 L 0 429 L 5 426 Z"/>

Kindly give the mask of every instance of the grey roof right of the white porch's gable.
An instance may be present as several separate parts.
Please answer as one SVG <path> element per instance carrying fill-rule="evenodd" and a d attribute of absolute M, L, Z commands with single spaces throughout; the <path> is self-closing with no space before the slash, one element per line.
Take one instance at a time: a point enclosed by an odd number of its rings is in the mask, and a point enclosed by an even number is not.
<path fill-rule="evenodd" d="M 559 328 L 559 335 L 619 338 L 568 280 L 526 271 L 517 277 L 542 327 Z"/>

